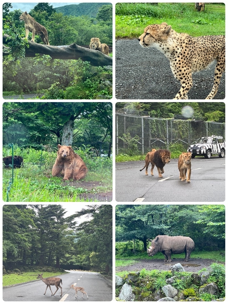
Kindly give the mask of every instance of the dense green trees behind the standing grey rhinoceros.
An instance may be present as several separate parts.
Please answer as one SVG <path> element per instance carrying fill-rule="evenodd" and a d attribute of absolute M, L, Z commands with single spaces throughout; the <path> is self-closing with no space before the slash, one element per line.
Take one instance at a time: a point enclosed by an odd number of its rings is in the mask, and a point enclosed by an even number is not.
<path fill-rule="evenodd" d="M 147 250 L 157 235 L 191 237 L 196 250 L 225 248 L 224 205 L 117 205 L 116 241 L 139 240 Z"/>

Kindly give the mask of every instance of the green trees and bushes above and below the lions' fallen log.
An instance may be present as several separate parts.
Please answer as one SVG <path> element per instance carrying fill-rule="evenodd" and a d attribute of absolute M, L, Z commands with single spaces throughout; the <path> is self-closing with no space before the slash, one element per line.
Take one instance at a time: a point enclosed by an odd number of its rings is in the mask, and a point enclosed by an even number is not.
<path fill-rule="evenodd" d="M 94 77 L 90 73 L 89 63 L 84 66 L 81 60 L 52 60 L 47 55 L 37 55 L 36 59 L 23 58 L 25 49 L 28 47 L 25 36 L 25 28 L 19 22 L 22 11 L 14 10 L 9 12 L 9 5 L 4 5 L 3 32 L 10 36 L 7 39 L 3 63 L 3 91 L 14 91 L 17 95 L 21 92 L 38 92 L 49 89 L 51 92 L 44 92 L 46 99 L 66 99 L 65 89 L 74 91 L 67 95 L 81 95 L 86 99 L 110 99 L 112 98 L 111 88 L 102 87 L 105 82 L 102 74 Z M 94 19 L 101 9 L 99 20 Z M 50 45 L 89 45 L 91 37 L 99 37 L 102 43 L 112 45 L 112 5 L 103 3 L 80 3 L 79 5 L 67 5 L 60 10 L 70 9 L 69 15 L 64 16 L 58 9 L 53 9 L 48 3 L 38 3 L 29 13 L 37 22 L 46 27 Z M 78 9 L 80 16 L 74 16 L 73 9 Z M 89 15 L 94 15 L 91 18 Z M 68 15 L 68 13 L 66 14 Z M 82 16 L 87 15 L 87 16 Z M 103 17 L 102 17 L 103 16 Z M 105 19 L 105 20 L 104 20 Z M 106 20 L 107 19 L 107 20 Z M 31 38 L 29 33 L 29 38 Z M 37 43 L 42 43 L 39 35 L 35 37 Z M 16 60 L 21 59 L 21 61 Z M 83 69 L 86 67 L 86 73 Z M 26 71 L 26 73 L 25 73 Z M 89 79 L 88 79 L 89 78 Z M 87 81 L 84 84 L 84 81 Z M 61 85 L 57 84 L 60 83 Z M 54 85 L 54 87 L 51 87 Z M 78 86 L 78 88 L 76 88 Z M 76 94 L 76 95 L 75 95 Z M 84 96 L 84 97 L 83 97 Z M 78 98 L 78 99 L 81 99 Z"/>

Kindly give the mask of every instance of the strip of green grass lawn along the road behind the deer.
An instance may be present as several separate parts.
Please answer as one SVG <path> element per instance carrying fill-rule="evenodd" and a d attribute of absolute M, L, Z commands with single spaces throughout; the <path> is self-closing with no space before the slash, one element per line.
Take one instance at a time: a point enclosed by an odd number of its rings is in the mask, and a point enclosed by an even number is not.
<path fill-rule="evenodd" d="M 67 273 L 67 272 L 64 272 Z M 43 272 L 42 277 L 43 278 L 48 278 L 48 277 L 54 277 L 57 275 L 61 275 L 62 272 Z M 13 284 L 18 284 L 18 283 L 25 283 L 25 282 L 30 282 L 30 281 L 34 281 L 34 280 L 40 280 L 40 279 L 36 279 L 38 273 L 34 273 L 29 271 L 29 272 L 24 272 L 22 274 L 10 274 L 10 275 L 3 275 L 2 278 L 2 284 L 3 286 L 9 286 L 9 285 L 13 285 Z"/>

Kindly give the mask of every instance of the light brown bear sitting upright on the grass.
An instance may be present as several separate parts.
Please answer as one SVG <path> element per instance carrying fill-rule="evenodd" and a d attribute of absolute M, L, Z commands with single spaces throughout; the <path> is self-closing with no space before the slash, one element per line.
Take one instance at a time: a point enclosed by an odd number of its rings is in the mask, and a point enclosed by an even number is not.
<path fill-rule="evenodd" d="M 64 175 L 63 180 L 80 180 L 85 178 L 88 169 L 81 157 L 74 153 L 71 146 L 58 144 L 57 158 L 52 168 L 52 176 Z"/>

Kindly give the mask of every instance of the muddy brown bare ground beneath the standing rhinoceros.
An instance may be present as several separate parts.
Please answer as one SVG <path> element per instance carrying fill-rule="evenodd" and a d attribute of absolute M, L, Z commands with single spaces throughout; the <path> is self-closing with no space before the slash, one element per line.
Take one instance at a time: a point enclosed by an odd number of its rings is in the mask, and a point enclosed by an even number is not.
<path fill-rule="evenodd" d="M 140 271 L 145 268 L 146 270 L 170 270 L 170 267 L 174 264 L 180 263 L 185 271 L 188 272 L 198 272 L 202 268 L 209 268 L 209 266 L 214 263 L 214 260 L 201 259 L 201 258 L 191 258 L 188 262 L 184 262 L 183 259 L 173 258 L 171 262 L 164 262 L 161 259 L 154 260 L 141 260 L 134 265 L 129 266 L 119 266 L 116 267 L 116 272 L 118 271 Z M 224 263 L 225 265 L 225 263 Z"/>

